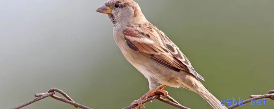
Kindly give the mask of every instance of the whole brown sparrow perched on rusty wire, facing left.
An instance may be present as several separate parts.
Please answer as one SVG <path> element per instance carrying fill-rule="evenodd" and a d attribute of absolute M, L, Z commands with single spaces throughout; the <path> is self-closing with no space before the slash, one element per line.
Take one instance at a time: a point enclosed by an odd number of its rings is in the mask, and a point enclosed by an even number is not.
<path fill-rule="evenodd" d="M 136 1 L 107 0 L 96 11 L 108 15 L 113 23 L 114 40 L 122 54 L 148 80 L 149 90 L 132 103 L 137 104 L 138 109 L 156 92 L 167 97 L 166 86 L 188 89 L 213 109 L 227 109 L 203 86 L 200 80 L 204 78 L 180 49 L 145 18 Z"/>

